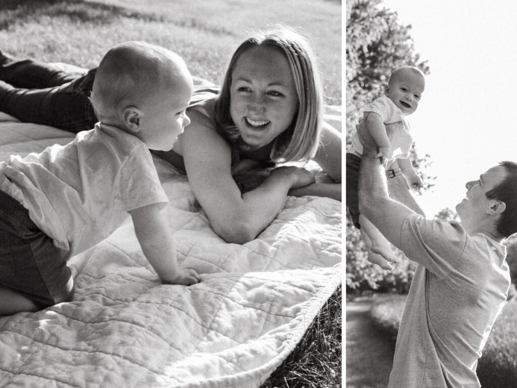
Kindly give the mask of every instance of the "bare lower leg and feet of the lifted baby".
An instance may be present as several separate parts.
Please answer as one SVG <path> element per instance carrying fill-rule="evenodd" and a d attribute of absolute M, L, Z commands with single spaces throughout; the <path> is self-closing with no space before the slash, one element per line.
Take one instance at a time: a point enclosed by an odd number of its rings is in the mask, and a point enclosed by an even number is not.
<path fill-rule="evenodd" d="M 368 261 L 381 266 L 384 270 L 391 270 L 392 266 L 389 262 L 396 263 L 398 259 L 391 249 L 388 240 L 362 214 L 359 216 L 359 222 L 361 223 L 361 236 L 367 243 L 367 246 L 368 240 L 370 241 Z"/>

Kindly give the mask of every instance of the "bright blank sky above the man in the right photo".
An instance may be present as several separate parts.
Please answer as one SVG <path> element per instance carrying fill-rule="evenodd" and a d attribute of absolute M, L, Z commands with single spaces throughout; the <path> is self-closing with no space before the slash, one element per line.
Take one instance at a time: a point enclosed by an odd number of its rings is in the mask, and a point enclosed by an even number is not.
<path fill-rule="evenodd" d="M 435 186 L 417 201 L 428 217 L 465 196 L 467 181 L 517 161 L 517 2 L 383 0 L 411 24 L 415 52 L 431 73 L 407 117 Z M 517 195 L 517 193 L 516 193 Z"/>

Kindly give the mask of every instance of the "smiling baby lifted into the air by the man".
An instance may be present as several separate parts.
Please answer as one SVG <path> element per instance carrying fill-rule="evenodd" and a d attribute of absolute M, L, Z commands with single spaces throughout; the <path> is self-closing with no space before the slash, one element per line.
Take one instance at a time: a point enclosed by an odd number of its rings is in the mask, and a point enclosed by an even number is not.
<path fill-rule="evenodd" d="M 376 158 L 385 166 L 387 177 L 402 172 L 412 187 L 422 187 L 422 181 L 408 157 L 413 139 L 405 116 L 418 108 L 424 86 L 424 74 L 416 67 L 404 66 L 394 70 L 386 87 L 386 96 L 367 105 L 361 119 L 377 143 Z M 388 241 L 366 217 L 359 214 L 358 178 L 362 151 L 357 131 L 354 131 L 352 145 L 346 154 L 346 207 L 354 226 L 361 230 L 368 247 L 368 260 L 391 270 L 389 262 L 396 262 L 397 258 Z M 396 159 L 400 169 L 390 169 Z"/>

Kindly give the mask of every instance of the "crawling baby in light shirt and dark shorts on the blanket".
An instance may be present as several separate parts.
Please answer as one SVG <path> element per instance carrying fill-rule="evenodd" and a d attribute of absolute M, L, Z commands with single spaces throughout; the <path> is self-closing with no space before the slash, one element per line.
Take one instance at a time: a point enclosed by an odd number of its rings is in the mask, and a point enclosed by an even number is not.
<path fill-rule="evenodd" d="M 199 282 L 178 266 L 168 198 L 149 148 L 168 151 L 190 124 L 192 77 L 177 54 L 144 42 L 113 47 L 91 101 L 100 122 L 64 146 L 0 163 L 0 316 L 70 301 L 67 260 L 131 215 L 136 237 L 164 283 Z"/>

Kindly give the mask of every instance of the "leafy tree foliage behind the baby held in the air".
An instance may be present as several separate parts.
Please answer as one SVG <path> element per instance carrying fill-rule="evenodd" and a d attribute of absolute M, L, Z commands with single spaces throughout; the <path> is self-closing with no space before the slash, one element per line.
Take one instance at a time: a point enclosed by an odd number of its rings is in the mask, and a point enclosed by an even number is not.
<path fill-rule="evenodd" d="M 429 74 L 429 66 L 415 53 L 411 26 L 402 25 L 397 12 L 381 6 L 381 0 L 346 2 L 346 135 L 359 119 L 362 107 L 384 94 L 390 73 L 404 65 L 417 66 Z M 418 157 L 410 152 L 413 166 L 422 177 L 424 190 L 434 177 L 425 173 L 430 156 Z M 346 285 L 348 290 L 375 289 L 407 292 L 415 264 L 397 251 L 399 262 L 392 271 L 381 270 L 367 261 L 360 233 L 351 222 L 346 226 Z"/>

